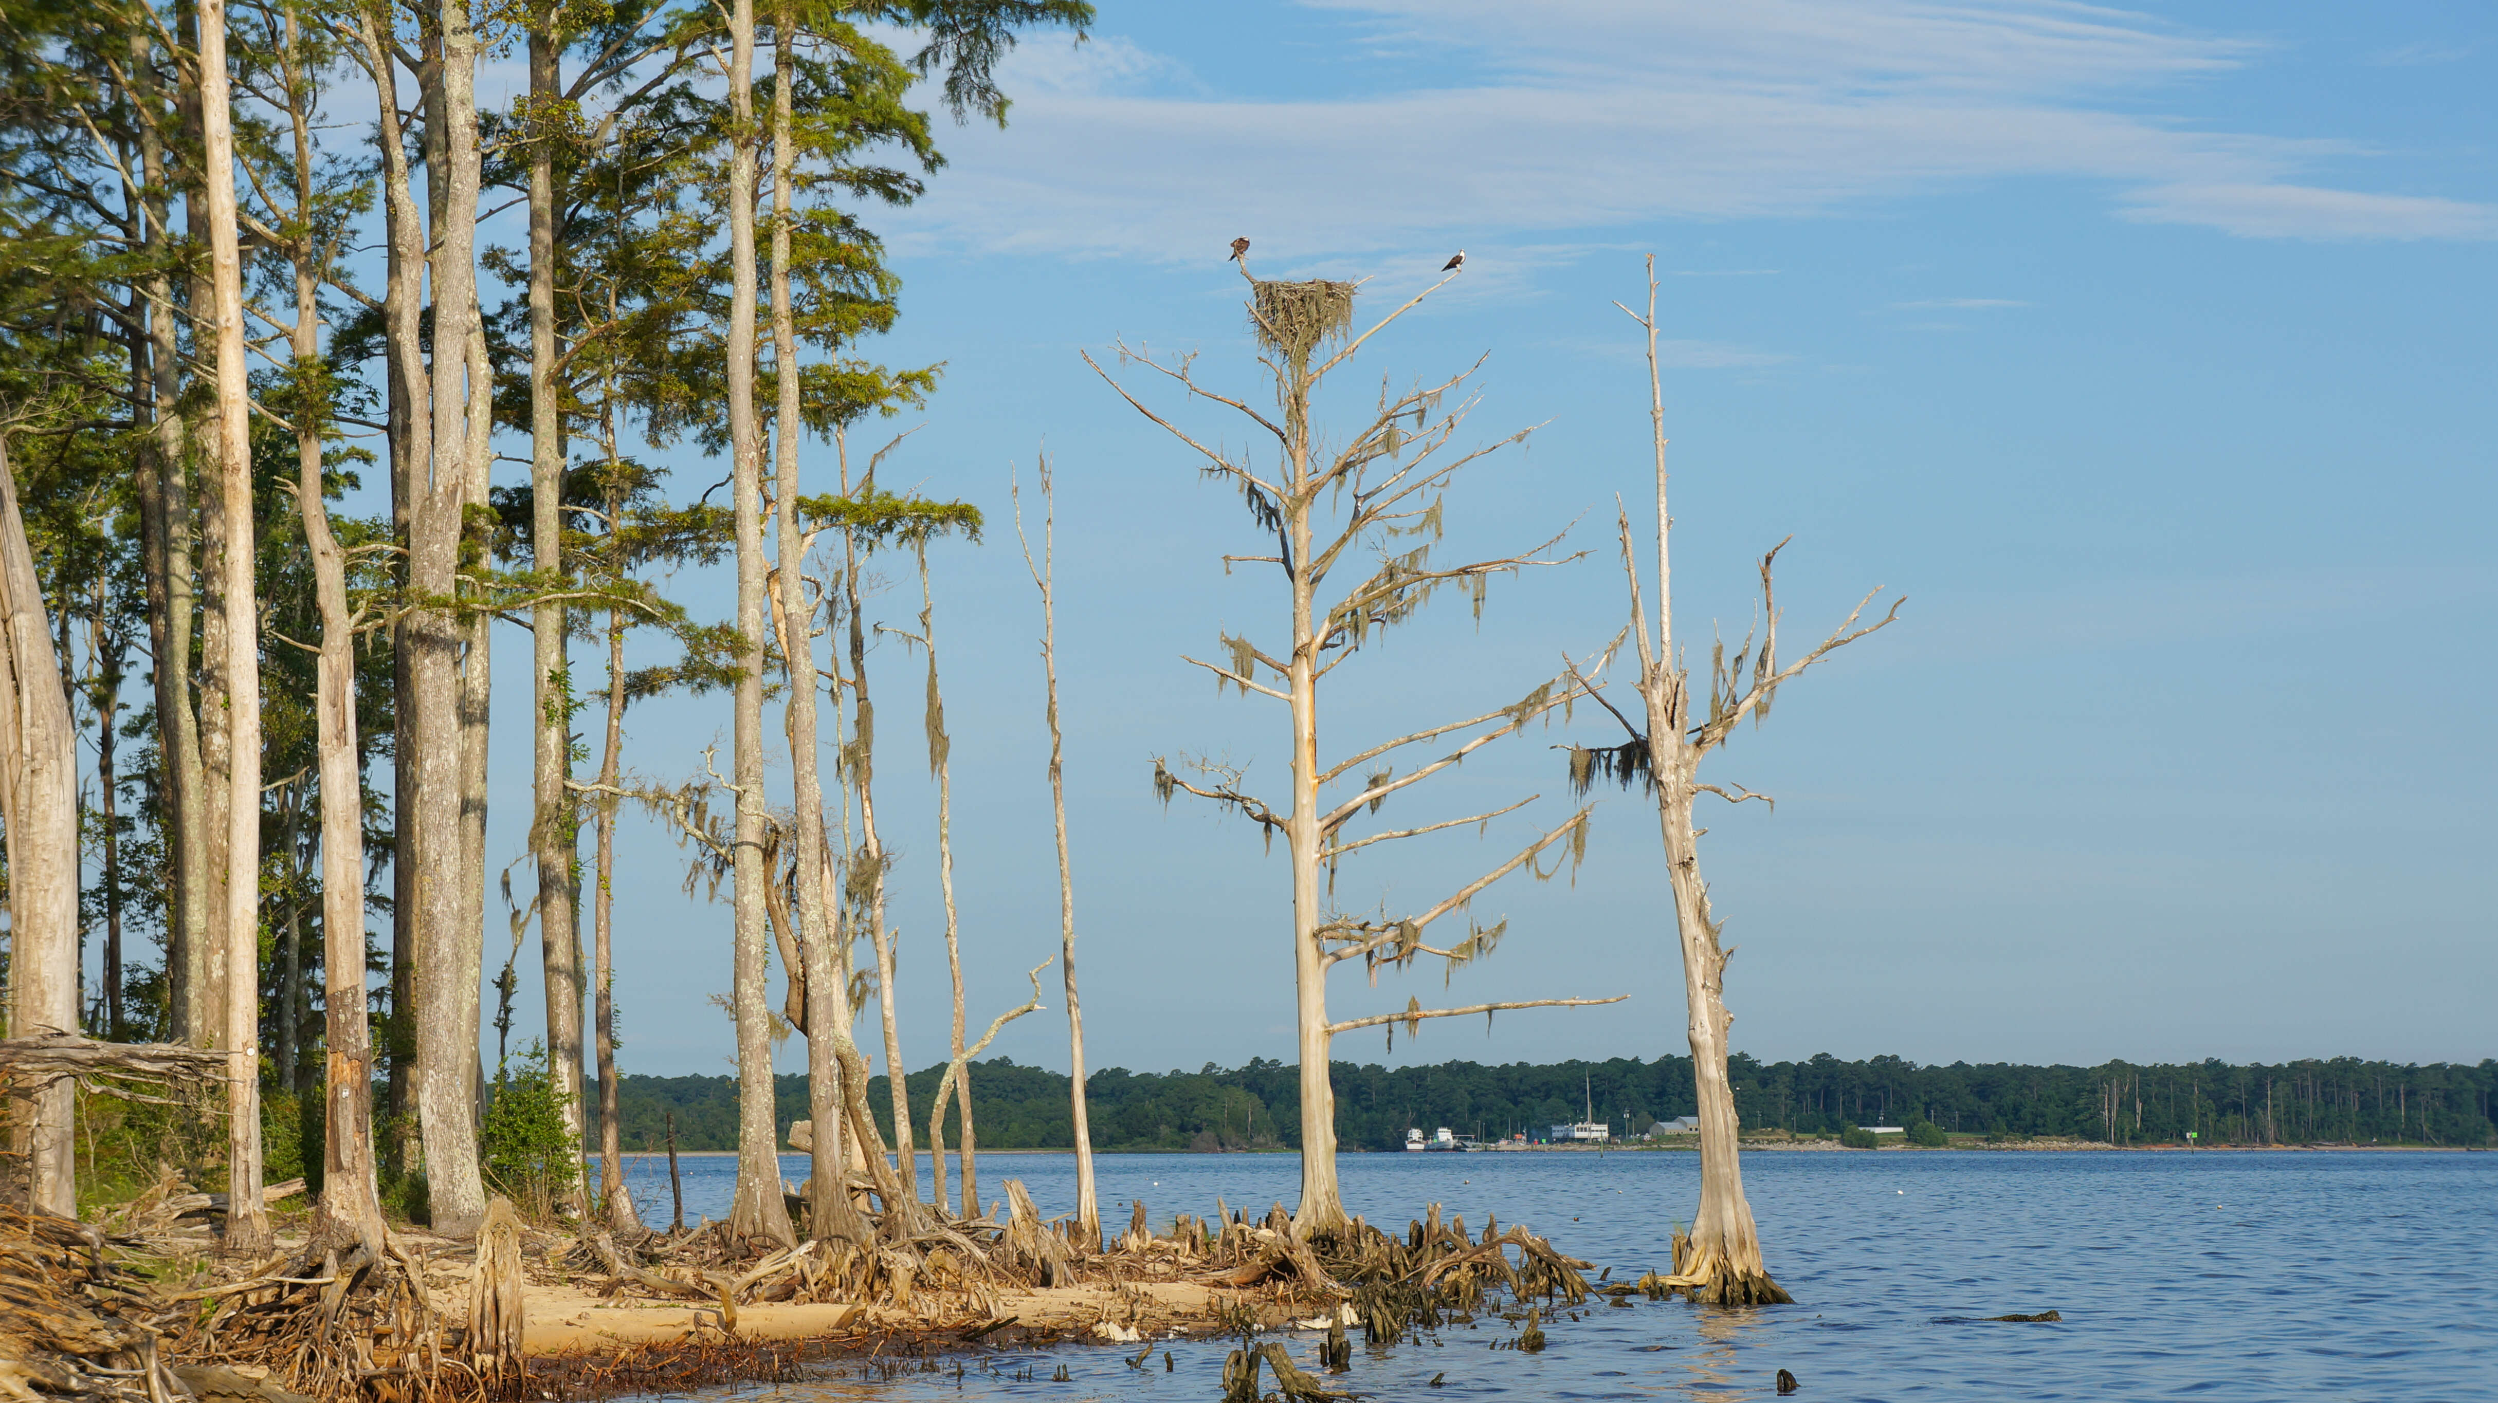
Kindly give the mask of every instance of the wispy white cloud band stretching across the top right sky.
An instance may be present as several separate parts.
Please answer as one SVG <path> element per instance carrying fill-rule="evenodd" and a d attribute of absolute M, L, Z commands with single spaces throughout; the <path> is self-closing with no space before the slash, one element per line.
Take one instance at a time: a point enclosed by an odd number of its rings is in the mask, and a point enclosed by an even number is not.
<path fill-rule="evenodd" d="M 2141 115 L 2258 52 L 2051 0 L 1309 0 L 1426 47 L 1446 87 L 1212 97 L 1104 37 L 1009 62 L 1009 132 L 962 130 L 907 242 L 1416 262 L 1651 220 L 1821 215 L 2001 177 L 2136 190 L 2126 215 L 2306 237 L 2488 237 L 2481 205 L 2286 180 L 2353 142 Z M 1436 252 L 1434 252 L 1436 250 Z"/>

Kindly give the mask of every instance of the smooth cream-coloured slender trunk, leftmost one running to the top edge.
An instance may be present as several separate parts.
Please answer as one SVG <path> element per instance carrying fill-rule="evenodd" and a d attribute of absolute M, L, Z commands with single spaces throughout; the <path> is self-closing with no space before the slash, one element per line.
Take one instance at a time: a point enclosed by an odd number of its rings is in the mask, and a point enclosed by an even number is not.
<path fill-rule="evenodd" d="M 205 132 L 210 280 L 217 327 L 217 447 L 225 509 L 225 1251 L 265 1253 L 260 1203 L 260 627 L 252 567 L 252 409 L 242 345 L 242 250 L 235 215 L 235 117 L 225 75 L 225 0 L 200 0 L 200 115 Z"/>

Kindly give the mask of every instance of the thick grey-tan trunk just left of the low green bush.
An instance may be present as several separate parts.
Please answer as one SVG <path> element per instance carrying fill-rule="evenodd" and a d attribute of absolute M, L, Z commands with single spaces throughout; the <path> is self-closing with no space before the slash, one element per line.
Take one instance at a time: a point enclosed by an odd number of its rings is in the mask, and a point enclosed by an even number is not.
<path fill-rule="evenodd" d="M 477 35 L 467 0 L 442 0 L 440 125 L 427 147 L 440 170 L 427 182 L 440 190 L 442 220 L 432 245 L 435 362 L 427 377 L 432 427 L 412 457 L 425 472 L 412 492 L 407 579 L 422 607 L 410 614 L 407 644 L 417 706 L 400 719 L 402 761 L 415 769 L 417 811 L 417 1123 L 425 1138 L 425 1176 L 435 1231 L 470 1236 L 485 1216 L 477 1176 L 475 1068 L 477 999 L 482 976 L 480 921 L 462 891 L 467 856 L 462 799 L 467 796 L 462 741 L 460 654 L 465 622 L 450 609 L 457 594 L 462 507 L 470 494 L 470 412 L 485 412 L 485 384 L 462 387 L 465 350 L 477 317 Z M 387 57 L 387 50 L 385 50 Z M 385 155 L 385 160 L 395 160 Z M 415 210 L 402 212 L 402 237 L 422 237 Z M 415 337 L 410 310 L 407 335 Z M 422 364 L 405 347 L 410 367 Z M 480 894 L 482 901 L 482 894 Z"/>

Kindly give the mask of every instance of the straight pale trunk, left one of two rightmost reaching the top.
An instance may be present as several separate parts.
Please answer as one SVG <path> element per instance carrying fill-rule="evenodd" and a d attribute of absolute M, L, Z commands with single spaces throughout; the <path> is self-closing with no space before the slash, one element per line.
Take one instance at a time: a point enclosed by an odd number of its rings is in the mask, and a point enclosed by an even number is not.
<path fill-rule="evenodd" d="M 737 854 L 732 901 L 737 951 L 737 1198 L 729 1231 L 797 1241 L 779 1191 L 779 1126 L 772 1113 L 772 1014 L 764 1006 L 764 544 L 762 434 L 754 422 L 754 0 L 729 12 L 729 457 L 737 492 L 737 674 L 734 771 Z"/>

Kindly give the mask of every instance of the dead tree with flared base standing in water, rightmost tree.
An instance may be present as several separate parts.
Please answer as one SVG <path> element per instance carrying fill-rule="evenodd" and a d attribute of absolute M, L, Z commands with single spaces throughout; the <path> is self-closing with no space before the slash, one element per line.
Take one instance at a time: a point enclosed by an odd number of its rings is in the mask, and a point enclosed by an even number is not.
<path fill-rule="evenodd" d="M 1621 302 L 1616 302 L 1621 307 Z M 1649 632 L 1649 614 L 1639 587 L 1639 557 L 1631 547 L 1631 517 L 1621 524 L 1621 572 L 1631 587 L 1631 634 L 1639 639 L 1639 699 L 1646 706 L 1641 721 L 1624 716 L 1604 699 L 1591 682 L 1596 669 L 1571 667 L 1579 682 L 1614 719 L 1629 739 L 1611 749 L 1569 746 L 1571 789 L 1586 794 L 1599 779 L 1624 786 L 1644 784 L 1656 799 L 1656 819 L 1666 841 L 1666 881 L 1674 889 L 1674 924 L 1684 951 L 1684 999 L 1689 1004 L 1691 1076 L 1699 1088 L 1701 1116 L 1701 1203 L 1691 1213 L 1691 1233 L 1674 1238 L 1674 1276 L 1669 1291 L 1684 1291 L 1691 1301 L 1716 1306 L 1761 1306 L 1791 1301 L 1761 1266 L 1761 1236 L 1751 1221 L 1751 1203 L 1744 1201 L 1744 1166 L 1736 1158 L 1734 1086 L 1726 1078 L 1726 1029 L 1734 1014 L 1726 1011 L 1726 959 L 1734 949 L 1719 944 L 1724 926 L 1709 911 L 1709 884 L 1701 881 L 1699 834 L 1691 824 L 1691 806 L 1701 794 L 1716 794 L 1729 804 L 1761 799 L 1741 784 L 1704 784 L 1699 766 L 1709 751 L 1726 744 L 1749 716 L 1754 724 L 1769 719 L 1769 704 L 1779 687 L 1831 652 L 1886 627 L 1898 617 L 1903 599 L 1891 602 L 1891 612 L 1874 624 L 1859 627 L 1866 594 L 1856 609 L 1821 644 L 1796 662 L 1779 662 L 1779 602 L 1771 589 L 1771 564 L 1779 559 L 1779 542 L 1761 557 L 1761 624 L 1759 649 L 1746 637 L 1734 662 L 1726 644 L 1709 649 L 1709 709 L 1696 711 L 1691 699 L 1691 674 L 1684 669 L 1674 644 L 1674 574 L 1669 534 L 1674 519 L 1666 514 L 1666 392 L 1656 374 L 1656 257 L 1649 257 L 1649 312 L 1641 317 L 1621 307 L 1649 332 L 1649 422 L 1656 439 L 1656 632 Z M 1749 667 L 1749 672 L 1746 672 Z"/>

